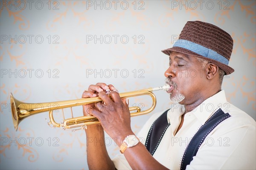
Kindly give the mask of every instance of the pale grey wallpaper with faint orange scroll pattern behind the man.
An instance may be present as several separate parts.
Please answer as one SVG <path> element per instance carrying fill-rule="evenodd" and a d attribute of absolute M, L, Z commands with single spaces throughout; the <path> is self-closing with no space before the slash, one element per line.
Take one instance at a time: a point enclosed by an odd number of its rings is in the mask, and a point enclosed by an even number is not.
<path fill-rule="evenodd" d="M 168 56 L 189 20 L 215 24 L 234 39 L 224 78 L 227 100 L 256 119 L 256 2 L 203 1 L 0 1 L 0 168 L 87 169 L 84 131 L 50 128 L 44 112 L 24 119 L 15 131 L 10 92 L 20 101 L 41 103 L 81 98 L 90 84 L 113 84 L 128 92 L 164 84 Z M 154 112 L 171 106 L 155 92 Z M 148 98 L 130 105 L 149 107 Z M 69 109 L 64 109 L 69 117 Z M 77 116 L 82 107 L 73 108 Z M 132 120 L 138 132 L 152 115 Z M 55 112 L 61 120 L 61 112 Z M 113 158 L 119 148 L 106 135 Z M 99 160 L 100 163 L 100 160 Z"/>

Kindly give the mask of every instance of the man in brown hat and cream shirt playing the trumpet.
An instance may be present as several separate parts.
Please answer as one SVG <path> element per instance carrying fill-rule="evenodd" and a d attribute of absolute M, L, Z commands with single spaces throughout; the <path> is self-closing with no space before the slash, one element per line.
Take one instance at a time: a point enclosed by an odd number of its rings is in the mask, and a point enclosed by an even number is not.
<path fill-rule="evenodd" d="M 128 105 L 115 87 L 90 85 L 82 97 L 99 96 L 105 103 L 83 106 L 84 115 L 101 122 L 88 126 L 87 138 L 100 141 L 105 130 L 123 154 L 111 160 L 105 145 L 87 143 L 89 168 L 255 169 L 255 121 L 228 103 L 221 90 L 223 76 L 234 72 L 228 66 L 232 49 L 233 39 L 224 30 L 201 21 L 187 22 L 174 46 L 163 50 L 169 55 L 167 92 L 177 104 L 152 115 L 136 136 Z"/>

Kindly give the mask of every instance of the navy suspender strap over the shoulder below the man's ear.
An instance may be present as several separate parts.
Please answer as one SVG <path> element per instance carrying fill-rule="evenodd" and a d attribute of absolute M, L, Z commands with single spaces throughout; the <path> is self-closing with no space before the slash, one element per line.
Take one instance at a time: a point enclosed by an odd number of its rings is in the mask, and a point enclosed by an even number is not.
<path fill-rule="evenodd" d="M 229 118 L 229 113 L 224 113 L 221 109 L 218 109 L 203 126 L 200 127 L 198 132 L 193 136 L 184 152 L 180 170 L 185 170 L 186 166 L 193 160 L 193 156 L 198 152 L 199 147 L 204 142 L 207 135 L 222 121 Z"/>

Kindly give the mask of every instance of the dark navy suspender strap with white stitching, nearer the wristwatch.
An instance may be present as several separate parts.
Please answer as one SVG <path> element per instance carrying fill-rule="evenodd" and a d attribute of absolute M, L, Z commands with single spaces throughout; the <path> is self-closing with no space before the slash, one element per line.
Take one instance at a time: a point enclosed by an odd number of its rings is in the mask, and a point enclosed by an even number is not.
<path fill-rule="evenodd" d="M 154 152 L 156 151 L 160 141 L 162 140 L 166 129 L 170 125 L 167 121 L 168 111 L 169 109 L 166 110 L 162 115 L 160 115 L 159 118 L 157 118 L 157 120 L 154 121 L 148 132 L 145 147 L 151 153 L 151 155 L 154 155 Z"/>

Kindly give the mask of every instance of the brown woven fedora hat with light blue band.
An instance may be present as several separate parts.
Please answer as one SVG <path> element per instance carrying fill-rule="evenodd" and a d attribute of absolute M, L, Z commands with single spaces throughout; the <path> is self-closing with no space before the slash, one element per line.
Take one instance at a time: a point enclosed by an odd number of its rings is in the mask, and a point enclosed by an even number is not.
<path fill-rule="evenodd" d="M 170 55 L 171 51 L 175 51 L 204 58 L 229 75 L 234 72 L 228 66 L 232 49 L 233 39 L 224 30 L 202 21 L 188 21 L 173 47 L 162 52 Z"/>

